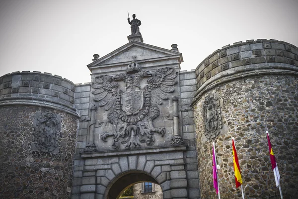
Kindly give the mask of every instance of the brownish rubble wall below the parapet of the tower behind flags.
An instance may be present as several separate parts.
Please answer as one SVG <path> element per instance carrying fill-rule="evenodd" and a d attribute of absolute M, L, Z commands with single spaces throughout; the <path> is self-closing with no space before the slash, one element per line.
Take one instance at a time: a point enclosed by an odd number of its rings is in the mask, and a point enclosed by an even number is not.
<path fill-rule="evenodd" d="M 205 135 L 203 104 L 219 96 L 223 118 L 221 134 Z M 285 199 L 298 195 L 298 78 L 258 76 L 235 80 L 202 95 L 195 103 L 196 143 L 201 198 L 215 198 L 212 177 L 212 142 L 216 143 L 221 197 L 240 198 L 235 189 L 232 137 L 235 138 L 245 198 L 279 199 L 271 167 L 266 129 L 281 176 Z"/>

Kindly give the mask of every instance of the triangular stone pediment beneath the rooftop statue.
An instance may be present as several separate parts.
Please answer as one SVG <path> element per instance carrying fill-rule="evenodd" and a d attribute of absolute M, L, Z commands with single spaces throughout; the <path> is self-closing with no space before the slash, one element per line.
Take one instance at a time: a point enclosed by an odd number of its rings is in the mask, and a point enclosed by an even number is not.
<path fill-rule="evenodd" d="M 138 41 L 131 41 L 100 59 L 94 60 L 92 63 L 87 65 L 87 67 L 91 70 L 92 68 L 104 66 L 112 67 L 129 64 L 133 61 L 133 57 L 135 57 L 136 62 L 150 62 L 156 59 L 177 59 L 179 63 L 183 62 L 182 54 L 179 52 Z"/>

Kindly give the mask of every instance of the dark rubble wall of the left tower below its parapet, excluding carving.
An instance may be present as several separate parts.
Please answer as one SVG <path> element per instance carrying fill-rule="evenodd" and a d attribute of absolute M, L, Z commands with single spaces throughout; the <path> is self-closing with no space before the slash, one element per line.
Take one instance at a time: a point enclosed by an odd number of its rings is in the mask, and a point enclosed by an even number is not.
<path fill-rule="evenodd" d="M 31 150 L 36 112 L 46 110 L 61 115 L 58 154 Z M 0 198 L 70 198 L 77 118 L 28 106 L 0 107 L 0 118 Z"/>

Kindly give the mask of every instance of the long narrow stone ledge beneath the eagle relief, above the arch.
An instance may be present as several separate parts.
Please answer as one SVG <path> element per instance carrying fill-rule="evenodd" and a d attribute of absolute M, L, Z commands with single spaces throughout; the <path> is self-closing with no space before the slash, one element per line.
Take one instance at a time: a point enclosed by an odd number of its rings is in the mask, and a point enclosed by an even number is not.
<path fill-rule="evenodd" d="M 175 146 L 175 147 L 137 149 L 137 150 L 130 150 L 130 151 L 104 151 L 104 152 L 95 152 L 95 153 L 81 153 L 81 158 L 144 155 L 144 154 L 151 154 L 151 153 L 163 153 L 163 152 L 186 151 L 186 150 L 187 150 L 187 146 L 183 145 L 183 146 Z"/>

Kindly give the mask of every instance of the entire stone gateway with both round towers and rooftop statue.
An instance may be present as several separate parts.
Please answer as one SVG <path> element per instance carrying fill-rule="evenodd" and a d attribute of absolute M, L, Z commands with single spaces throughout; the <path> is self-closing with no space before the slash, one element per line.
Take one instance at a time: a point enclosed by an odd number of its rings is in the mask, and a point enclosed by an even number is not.
<path fill-rule="evenodd" d="M 181 71 L 177 44 L 144 43 L 133 17 L 129 42 L 87 65 L 90 83 L 0 77 L 0 198 L 118 199 L 132 185 L 136 198 L 152 185 L 163 199 L 216 198 L 213 142 L 221 197 L 240 198 L 234 137 L 245 198 L 278 199 L 266 130 L 284 198 L 297 198 L 298 48 L 236 42 Z"/>

